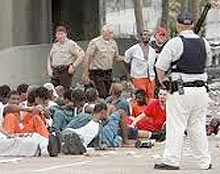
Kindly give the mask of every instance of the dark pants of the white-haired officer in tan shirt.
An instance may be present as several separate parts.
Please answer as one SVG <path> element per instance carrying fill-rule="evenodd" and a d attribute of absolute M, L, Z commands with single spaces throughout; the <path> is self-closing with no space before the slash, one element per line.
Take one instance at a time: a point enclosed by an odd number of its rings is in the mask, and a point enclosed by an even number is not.
<path fill-rule="evenodd" d="M 89 78 L 94 82 L 99 96 L 106 98 L 112 84 L 112 70 L 90 70 Z"/>

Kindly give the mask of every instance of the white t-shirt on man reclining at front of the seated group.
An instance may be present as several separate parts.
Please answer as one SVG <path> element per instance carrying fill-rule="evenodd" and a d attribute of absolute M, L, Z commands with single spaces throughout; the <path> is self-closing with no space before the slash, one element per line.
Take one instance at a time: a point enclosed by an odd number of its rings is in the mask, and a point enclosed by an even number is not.
<path fill-rule="evenodd" d="M 99 133 L 99 123 L 91 120 L 88 124 L 78 129 L 67 128 L 78 134 L 83 139 L 83 145 L 87 147 L 89 143 L 98 135 Z"/>

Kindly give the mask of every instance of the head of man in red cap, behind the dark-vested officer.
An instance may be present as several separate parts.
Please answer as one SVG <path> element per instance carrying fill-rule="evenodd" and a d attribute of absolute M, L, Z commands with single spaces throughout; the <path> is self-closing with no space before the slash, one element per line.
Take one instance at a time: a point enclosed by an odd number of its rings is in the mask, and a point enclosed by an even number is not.
<path fill-rule="evenodd" d="M 159 46 L 163 45 L 168 39 L 168 33 L 166 28 L 163 27 L 156 28 L 154 37 Z"/>

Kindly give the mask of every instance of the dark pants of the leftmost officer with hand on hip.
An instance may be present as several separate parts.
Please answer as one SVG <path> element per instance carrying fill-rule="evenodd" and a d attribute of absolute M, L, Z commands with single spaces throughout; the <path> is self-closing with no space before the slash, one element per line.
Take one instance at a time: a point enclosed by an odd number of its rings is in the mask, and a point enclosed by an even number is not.
<path fill-rule="evenodd" d="M 71 86 L 73 75 L 68 73 L 68 69 L 69 66 L 64 65 L 53 68 L 51 82 L 55 87 L 62 85 L 65 88 L 69 88 Z"/>

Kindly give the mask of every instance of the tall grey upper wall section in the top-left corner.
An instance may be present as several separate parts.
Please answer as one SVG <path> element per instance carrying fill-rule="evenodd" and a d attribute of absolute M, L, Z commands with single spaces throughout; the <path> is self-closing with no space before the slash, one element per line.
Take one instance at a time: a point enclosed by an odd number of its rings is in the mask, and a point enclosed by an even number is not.
<path fill-rule="evenodd" d="M 0 49 L 50 42 L 51 0 L 1 0 Z"/>

